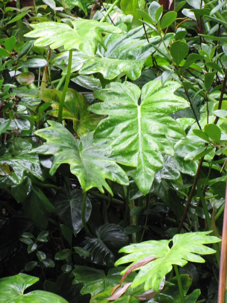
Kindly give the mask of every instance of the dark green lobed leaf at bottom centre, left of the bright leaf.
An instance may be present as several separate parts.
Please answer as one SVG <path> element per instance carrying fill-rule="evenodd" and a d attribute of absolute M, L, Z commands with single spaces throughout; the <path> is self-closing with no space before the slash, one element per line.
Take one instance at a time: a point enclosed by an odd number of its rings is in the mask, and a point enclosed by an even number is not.
<path fill-rule="evenodd" d="M 81 288 L 81 295 L 91 294 L 91 297 L 97 295 L 100 292 L 105 291 L 106 288 L 113 287 L 120 283 L 121 268 L 111 268 L 107 275 L 103 270 L 95 269 L 88 266 L 76 265 L 73 274 L 75 276 L 73 284 L 83 283 Z M 132 281 L 135 274 L 132 273 L 128 278 L 127 282 Z"/>

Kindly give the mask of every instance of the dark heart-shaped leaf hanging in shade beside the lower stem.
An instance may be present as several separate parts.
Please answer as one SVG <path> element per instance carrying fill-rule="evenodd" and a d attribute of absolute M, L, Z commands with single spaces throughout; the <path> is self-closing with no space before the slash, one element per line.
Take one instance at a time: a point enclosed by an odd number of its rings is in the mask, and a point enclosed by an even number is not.
<path fill-rule="evenodd" d="M 54 206 L 56 208 L 56 213 L 61 219 L 61 221 L 70 228 L 75 235 L 83 228 L 83 223 L 81 219 L 82 211 L 82 201 L 83 193 L 79 189 L 74 189 L 69 193 L 65 188 L 59 189 L 55 196 Z M 87 222 L 91 214 L 91 203 L 89 198 L 86 198 L 86 207 L 85 207 L 85 221 Z M 65 231 L 65 228 L 64 228 Z M 70 241 L 67 232 L 67 238 Z M 64 234 L 63 234 L 64 235 Z"/>

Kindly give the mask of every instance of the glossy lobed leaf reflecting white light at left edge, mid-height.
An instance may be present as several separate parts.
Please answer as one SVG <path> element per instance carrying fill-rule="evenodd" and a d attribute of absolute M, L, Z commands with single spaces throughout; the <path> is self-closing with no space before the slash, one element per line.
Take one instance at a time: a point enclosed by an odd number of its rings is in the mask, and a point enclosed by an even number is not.
<path fill-rule="evenodd" d="M 37 155 L 21 154 L 12 157 L 11 154 L 7 153 L 1 157 L 1 164 L 9 165 L 13 172 L 11 175 L 0 176 L 0 188 L 20 184 L 24 180 L 26 173 L 30 173 L 41 181 L 44 181 L 44 175 L 41 171 Z"/>

